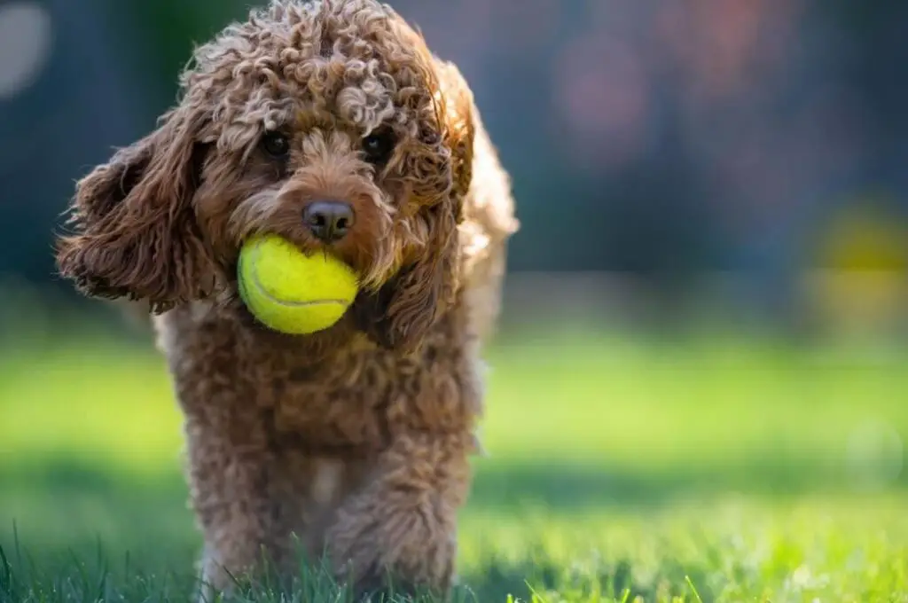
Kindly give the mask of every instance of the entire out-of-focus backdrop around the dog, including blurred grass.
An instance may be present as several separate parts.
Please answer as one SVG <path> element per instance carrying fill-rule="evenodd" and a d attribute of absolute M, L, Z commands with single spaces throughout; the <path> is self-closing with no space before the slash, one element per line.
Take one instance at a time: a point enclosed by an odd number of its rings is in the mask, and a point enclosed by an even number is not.
<path fill-rule="evenodd" d="M 470 517 L 901 491 L 908 3 L 392 4 L 518 200 Z M 51 244 L 247 5 L 0 3 L 0 542 L 195 546 L 163 361 Z"/>

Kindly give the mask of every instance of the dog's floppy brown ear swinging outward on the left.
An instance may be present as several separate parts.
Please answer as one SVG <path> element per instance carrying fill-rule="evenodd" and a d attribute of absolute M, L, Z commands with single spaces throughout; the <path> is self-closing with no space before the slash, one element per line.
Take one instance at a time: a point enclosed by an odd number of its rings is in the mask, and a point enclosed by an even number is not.
<path fill-rule="evenodd" d="M 153 311 L 212 293 L 216 266 L 192 195 L 206 146 L 201 111 L 181 106 L 157 130 L 76 184 L 60 273 L 87 295 L 148 301 Z"/>

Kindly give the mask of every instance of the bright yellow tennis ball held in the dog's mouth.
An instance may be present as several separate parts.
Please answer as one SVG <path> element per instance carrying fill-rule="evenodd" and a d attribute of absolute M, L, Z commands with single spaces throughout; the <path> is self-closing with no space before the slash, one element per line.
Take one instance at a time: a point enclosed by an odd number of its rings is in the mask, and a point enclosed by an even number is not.
<path fill-rule="evenodd" d="M 340 321 L 359 290 L 350 266 L 328 253 L 306 255 L 275 234 L 243 244 L 237 279 L 252 315 L 291 335 L 321 331 Z"/>

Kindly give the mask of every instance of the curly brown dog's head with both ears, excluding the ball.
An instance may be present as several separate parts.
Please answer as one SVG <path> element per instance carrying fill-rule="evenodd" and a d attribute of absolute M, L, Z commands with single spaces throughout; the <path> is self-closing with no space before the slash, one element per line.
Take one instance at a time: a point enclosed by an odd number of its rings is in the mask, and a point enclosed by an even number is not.
<path fill-rule="evenodd" d="M 457 287 L 471 114 L 388 6 L 275 2 L 198 48 L 158 129 L 77 184 L 60 272 L 165 311 L 229 294 L 242 242 L 275 232 L 348 262 L 362 329 L 412 347 Z"/>

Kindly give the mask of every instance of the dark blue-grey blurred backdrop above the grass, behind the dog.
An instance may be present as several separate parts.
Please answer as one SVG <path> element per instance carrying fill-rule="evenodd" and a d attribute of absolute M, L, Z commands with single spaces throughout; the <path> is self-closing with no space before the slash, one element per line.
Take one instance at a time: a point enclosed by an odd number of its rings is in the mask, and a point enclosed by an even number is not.
<path fill-rule="evenodd" d="M 0 5 L 14 288 L 66 300 L 49 249 L 74 179 L 153 128 L 192 45 L 247 4 Z M 395 6 L 469 77 L 513 174 L 516 285 L 557 274 L 547 297 L 620 298 L 660 327 L 702 313 L 704 295 L 785 330 L 903 323 L 904 3 Z"/>

